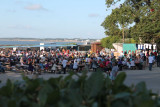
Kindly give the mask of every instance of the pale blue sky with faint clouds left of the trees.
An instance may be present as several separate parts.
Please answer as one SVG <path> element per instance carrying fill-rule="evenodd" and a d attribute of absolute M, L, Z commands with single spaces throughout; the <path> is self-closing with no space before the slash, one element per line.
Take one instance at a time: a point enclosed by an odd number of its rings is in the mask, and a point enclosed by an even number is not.
<path fill-rule="evenodd" d="M 0 38 L 106 37 L 105 0 L 1 0 Z"/>

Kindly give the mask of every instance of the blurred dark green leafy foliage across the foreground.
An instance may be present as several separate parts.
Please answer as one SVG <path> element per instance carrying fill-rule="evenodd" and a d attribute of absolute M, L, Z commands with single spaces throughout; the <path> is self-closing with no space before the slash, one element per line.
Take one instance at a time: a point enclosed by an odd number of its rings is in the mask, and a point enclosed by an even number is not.
<path fill-rule="evenodd" d="M 73 79 L 77 76 L 76 79 Z M 124 84 L 120 73 L 114 84 L 102 72 L 87 76 L 69 74 L 49 80 L 29 79 L 0 88 L 1 107 L 159 107 L 157 94 L 146 89 L 144 82 L 136 86 Z"/>

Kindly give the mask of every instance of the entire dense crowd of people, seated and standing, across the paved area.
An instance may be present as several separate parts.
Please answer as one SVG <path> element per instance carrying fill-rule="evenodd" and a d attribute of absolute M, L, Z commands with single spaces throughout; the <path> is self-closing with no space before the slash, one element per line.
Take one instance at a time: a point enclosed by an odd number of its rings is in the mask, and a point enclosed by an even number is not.
<path fill-rule="evenodd" d="M 0 72 L 12 70 L 26 70 L 33 73 L 64 73 L 86 71 L 104 71 L 112 80 L 115 79 L 118 71 L 123 69 L 145 69 L 149 65 L 157 62 L 160 66 L 160 53 L 151 50 L 122 52 L 119 57 L 115 57 L 114 52 L 107 53 L 105 50 L 93 53 L 88 51 L 81 53 L 76 50 L 66 49 L 50 50 L 0 50 Z"/>

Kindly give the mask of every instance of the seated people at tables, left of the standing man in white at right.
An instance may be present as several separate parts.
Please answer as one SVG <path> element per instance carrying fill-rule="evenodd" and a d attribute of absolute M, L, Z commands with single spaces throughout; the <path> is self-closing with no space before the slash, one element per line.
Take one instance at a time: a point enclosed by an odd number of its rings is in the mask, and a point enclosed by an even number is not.
<path fill-rule="evenodd" d="M 26 51 L 21 55 L 8 54 L 9 56 L 0 56 L 2 64 L 16 66 L 18 69 L 25 69 L 31 73 L 51 72 L 66 73 L 67 71 L 81 72 L 84 68 L 87 71 L 93 70 L 107 72 L 110 74 L 113 65 L 118 66 L 119 70 L 128 69 L 144 69 L 147 65 L 147 57 L 144 54 L 126 55 L 115 58 L 114 55 L 101 55 L 100 53 L 63 53 L 60 51 Z M 0 64 L 0 72 L 5 71 L 5 67 Z"/>

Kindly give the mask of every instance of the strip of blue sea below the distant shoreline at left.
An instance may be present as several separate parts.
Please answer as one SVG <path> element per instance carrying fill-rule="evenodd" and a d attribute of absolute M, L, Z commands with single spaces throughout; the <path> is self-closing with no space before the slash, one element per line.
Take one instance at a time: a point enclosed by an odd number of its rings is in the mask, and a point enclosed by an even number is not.
<path fill-rule="evenodd" d="M 0 40 L 0 45 L 40 45 L 40 43 L 55 43 L 57 45 L 66 45 L 71 43 L 76 43 L 77 45 L 82 45 L 84 42 L 46 42 L 46 41 L 2 41 Z"/>

